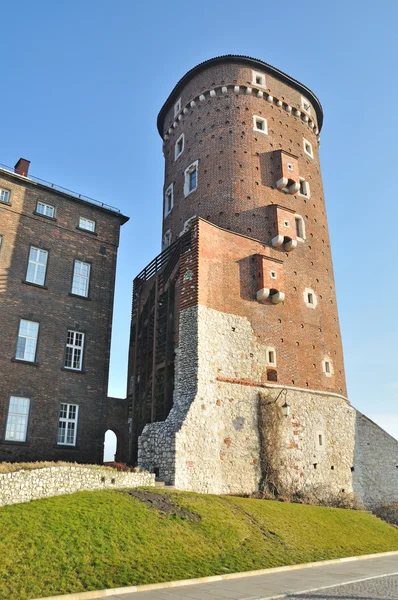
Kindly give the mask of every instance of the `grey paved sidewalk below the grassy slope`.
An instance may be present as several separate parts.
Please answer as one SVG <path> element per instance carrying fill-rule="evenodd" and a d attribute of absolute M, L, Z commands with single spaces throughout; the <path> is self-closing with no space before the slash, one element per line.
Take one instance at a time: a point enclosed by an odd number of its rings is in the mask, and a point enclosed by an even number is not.
<path fill-rule="evenodd" d="M 319 588 L 332 587 L 382 575 L 398 576 L 398 555 L 365 560 L 349 560 L 332 565 L 313 566 L 281 573 L 269 573 L 162 590 L 119 593 L 114 596 L 102 596 L 101 598 L 102 600 L 109 600 L 109 598 L 114 600 L 266 600 L 278 596 L 286 597 L 289 595 L 288 597 L 290 597 L 290 594 L 307 592 L 303 594 L 302 598 L 317 598 L 319 600 L 323 596 Z M 390 586 L 393 585 L 396 589 L 397 578 L 390 577 L 389 580 L 392 582 Z M 372 600 L 398 598 L 398 596 L 391 595 L 375 597 L 374 595 L 358 596 L 350 594 L 347 596 L 344 589 L 344 587 L 341 588 L 341 596 L 340 592 L 336 595 L 336 593 L 331 593 L 335 590 L 325 589 L 325 597 L 372 598 Z M 309 590 L 319 590 L 319 592 L 309 594 Z"/>

